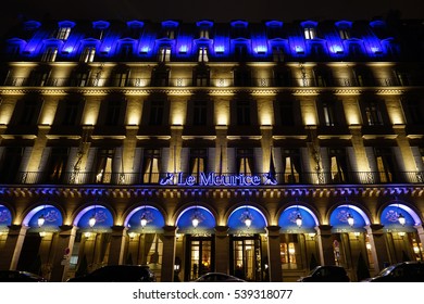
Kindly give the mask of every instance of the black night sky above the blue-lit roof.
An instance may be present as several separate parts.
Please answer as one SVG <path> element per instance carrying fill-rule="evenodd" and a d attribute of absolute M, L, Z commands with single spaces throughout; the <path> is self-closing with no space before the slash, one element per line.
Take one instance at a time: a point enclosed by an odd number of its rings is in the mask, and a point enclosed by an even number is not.
<path fill-rule="evenodd" d="M 424 18 L 424 0 L 9 0 L 1 23 L 38 20 L 371 20 L 400 10 L 403 18 Z"/>

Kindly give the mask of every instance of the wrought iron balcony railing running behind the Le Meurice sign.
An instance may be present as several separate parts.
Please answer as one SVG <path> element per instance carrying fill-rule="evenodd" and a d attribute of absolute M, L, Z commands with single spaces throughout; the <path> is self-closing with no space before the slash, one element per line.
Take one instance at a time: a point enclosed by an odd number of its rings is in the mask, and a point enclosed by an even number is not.
<path fill-rule="evenodd" d="M 63 172 L 49 175 L 42 172 L 21 172 L 17 177 L 0 183 L 21 185 L 180 185 L 180 186 L 283 186 L 283 185 L 373 185 L 373 183 L 423 183 L 424 172 L 347 172 L 347 173 L 92 173 Z"/>

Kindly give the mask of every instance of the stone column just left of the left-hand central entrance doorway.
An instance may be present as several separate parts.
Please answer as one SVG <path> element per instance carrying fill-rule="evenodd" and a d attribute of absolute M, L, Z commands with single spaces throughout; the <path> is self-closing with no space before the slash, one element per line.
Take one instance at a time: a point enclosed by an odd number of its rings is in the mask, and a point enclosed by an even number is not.
<path fill-rule="evenodd" d="M 162 282 L 174 281 L 175 226 L 163 227 Z"/>

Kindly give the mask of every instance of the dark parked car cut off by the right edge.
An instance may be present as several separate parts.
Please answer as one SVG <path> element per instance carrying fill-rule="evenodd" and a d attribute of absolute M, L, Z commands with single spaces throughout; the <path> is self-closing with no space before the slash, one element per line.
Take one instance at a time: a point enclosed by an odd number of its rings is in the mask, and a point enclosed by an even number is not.
<path fill-rule="evenodd" d="M 424 282 L 424 263 L 402 262 L 384 268 L 363 282 Z"/>

